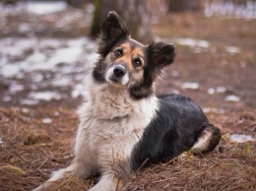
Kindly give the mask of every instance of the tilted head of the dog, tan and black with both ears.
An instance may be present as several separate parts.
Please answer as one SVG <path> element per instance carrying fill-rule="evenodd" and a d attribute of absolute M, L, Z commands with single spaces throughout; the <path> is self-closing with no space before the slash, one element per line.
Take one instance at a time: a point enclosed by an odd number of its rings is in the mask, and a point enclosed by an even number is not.
<path fill-rule="evenodd" d="M 126 24 L 115 12 L 109 12 L 98 38 L 99 60 L 94 68 L 97 83 L 126 89 L 135 99 L 151 96 L 160 71 L 175 56 L 173 44 L 149 45 L 132 39 Z"/>

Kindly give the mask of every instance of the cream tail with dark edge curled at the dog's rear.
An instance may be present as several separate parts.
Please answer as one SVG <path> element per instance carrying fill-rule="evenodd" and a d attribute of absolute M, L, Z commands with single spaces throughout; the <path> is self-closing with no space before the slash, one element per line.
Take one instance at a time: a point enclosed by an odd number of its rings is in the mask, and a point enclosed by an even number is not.
<path fill-rule="evenodd" d="M 219 128 L 212 124 L 208 124 L 199 132 L 197 141 L 189 152 L 192 154 L 210 152 L 219 144 L 221 136 Z"/>

